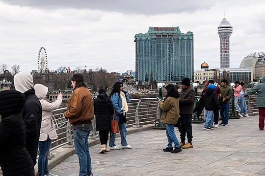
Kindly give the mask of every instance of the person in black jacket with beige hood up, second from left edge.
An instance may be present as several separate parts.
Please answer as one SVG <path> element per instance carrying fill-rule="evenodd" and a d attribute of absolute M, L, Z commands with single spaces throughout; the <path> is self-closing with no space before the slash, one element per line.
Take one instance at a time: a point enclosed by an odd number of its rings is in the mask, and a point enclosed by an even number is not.
<path fill-rule="evenodd" d="M 33 164 L 37 163 L 39 146 L 42 108 L 39 99 L 35 95 L 32 75 L 27 71 L 21 71 L 14 76 L 14 86 L 17 91 L 26 95 L 26 103 L 22 116 L 26 124 L 26 149 L 30 154 Z"/>

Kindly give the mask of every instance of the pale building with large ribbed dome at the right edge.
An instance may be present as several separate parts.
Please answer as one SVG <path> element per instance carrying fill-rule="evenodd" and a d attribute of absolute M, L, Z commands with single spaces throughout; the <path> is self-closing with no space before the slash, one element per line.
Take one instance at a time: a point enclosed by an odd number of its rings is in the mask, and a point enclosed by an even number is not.
<path fill-rule="evenodd" d="M 239 68 L 251 68 L 251 81 L 255 78 L 255 65 L 259 58 L 265 58 L 264 52 L 253 52 L 244 57 Z"/>

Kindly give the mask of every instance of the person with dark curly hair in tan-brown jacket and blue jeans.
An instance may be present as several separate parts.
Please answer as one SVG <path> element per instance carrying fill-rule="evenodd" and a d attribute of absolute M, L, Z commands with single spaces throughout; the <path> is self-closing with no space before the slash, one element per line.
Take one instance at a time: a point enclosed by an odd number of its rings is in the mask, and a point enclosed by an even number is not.
<path fill-rule="evenodd" d="M 180 94 L 174 85 L 169 84 L 166 86 L 167 95 L 164 101 L 159 101 L 159 107 L 162 110 L 162 116 L 160 122 L 166 125 L 166 136 L 168 140 L 167 147 L 163 149 L 164 152 L 179 153 L 181 152 L 180 143 L 174 131 L 174 125 L 179 119 L 179 97 Z M 173 150 L 172 143 L 175 144 L 175 149 Z"/>

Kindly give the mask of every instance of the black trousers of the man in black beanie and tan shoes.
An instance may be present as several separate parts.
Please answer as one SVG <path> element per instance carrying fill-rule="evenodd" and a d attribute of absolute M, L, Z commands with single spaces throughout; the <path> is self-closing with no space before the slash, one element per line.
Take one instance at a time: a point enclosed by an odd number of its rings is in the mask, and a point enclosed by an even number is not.
<path fill-rule="evenodd" d="M 181 142 L 185 143 L 185 137 L 187 134 L 188 143 L 192 141 L 192 126 L 191 117 L 192 114 L 180 114 L 181 116 L 181 126 L 179 132 L 181 133 Z"/>

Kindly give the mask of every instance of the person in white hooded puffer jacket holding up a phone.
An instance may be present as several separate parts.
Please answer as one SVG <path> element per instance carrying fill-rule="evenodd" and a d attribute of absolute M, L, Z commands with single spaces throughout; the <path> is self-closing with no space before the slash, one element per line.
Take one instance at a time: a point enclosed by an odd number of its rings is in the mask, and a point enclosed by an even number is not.
<path fill-rule="evenodd" d="M 62 103 L 62 94 L 59 93 L 57 96 L 57 100 L 53 101 L 52 103 L 49 103 L 46 100 L 48 87 L 41 84 L 36 84 L 34 86 L 34 89 L 42 107 L 42 122 L 39 139 L 38 160 L 39 176 L 56 176 L 49 173 L 48 171 L 48 153 L 51 147 L 52 140 L 57 139 L 56 128 L 52 118 L 52 110 L 56 110 L 60 107 Z"/>

